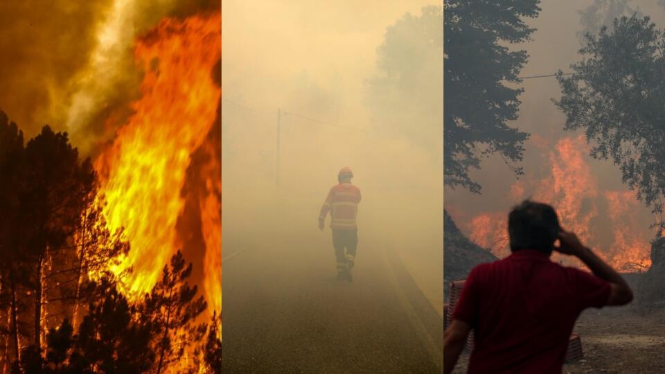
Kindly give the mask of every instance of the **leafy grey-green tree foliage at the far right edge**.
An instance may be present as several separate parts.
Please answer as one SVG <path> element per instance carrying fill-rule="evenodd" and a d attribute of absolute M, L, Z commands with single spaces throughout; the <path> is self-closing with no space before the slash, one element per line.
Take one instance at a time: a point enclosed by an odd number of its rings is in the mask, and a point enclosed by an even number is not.
<path fill-rule="evenodd" d="M 559 73 L 556 105 L 566 130 L 585 130 L 596 159 L 612 159 L 623 182 L 662 213 L 665 194 L 665 39 L 648 17 L 614 20 L 588 35 L 574 74 Z"/>

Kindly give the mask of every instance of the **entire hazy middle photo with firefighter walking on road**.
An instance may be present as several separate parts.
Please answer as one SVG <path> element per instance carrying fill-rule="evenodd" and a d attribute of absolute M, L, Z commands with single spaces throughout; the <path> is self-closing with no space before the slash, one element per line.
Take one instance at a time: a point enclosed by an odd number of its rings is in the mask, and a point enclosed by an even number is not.
<path fill-rule="evenodd" d="M 441 5 L 222 12 L 222 368 L 436 371 Z"/>

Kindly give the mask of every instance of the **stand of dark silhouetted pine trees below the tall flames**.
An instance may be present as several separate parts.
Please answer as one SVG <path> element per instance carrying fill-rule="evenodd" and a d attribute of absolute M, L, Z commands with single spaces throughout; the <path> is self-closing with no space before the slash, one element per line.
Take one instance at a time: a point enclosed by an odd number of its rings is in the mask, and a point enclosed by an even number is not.
<path fill-rule="evenodd" d="M 149 294 L 123 294 L 110 269 L 129 245 L 107 228 L 96 172 L 66 133 L 44 127 L 24 145 L 0 112 L 0 172 L 1 371 L 217 370 L 220 321 L 202 321 L 180 252 Z"/>

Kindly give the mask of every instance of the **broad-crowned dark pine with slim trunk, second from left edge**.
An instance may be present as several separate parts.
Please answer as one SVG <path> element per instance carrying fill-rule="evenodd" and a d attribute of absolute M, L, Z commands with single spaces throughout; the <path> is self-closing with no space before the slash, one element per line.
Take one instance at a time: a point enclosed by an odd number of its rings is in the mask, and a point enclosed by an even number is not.
<path fill-rule="evenodd" d="M 89 204 L 96 173 L 89 159 L 81 161 L 67 133 L 42 132 L 28 141 L 21 162 L 24 189 L 19 193 L 19 221 L 24 225 L 29 261 L 33 267 L 33 344 L 41 347 L 42 307 L 44 305 L 44 263 L 60 251 L 80 227 L 84 208 Z"/>

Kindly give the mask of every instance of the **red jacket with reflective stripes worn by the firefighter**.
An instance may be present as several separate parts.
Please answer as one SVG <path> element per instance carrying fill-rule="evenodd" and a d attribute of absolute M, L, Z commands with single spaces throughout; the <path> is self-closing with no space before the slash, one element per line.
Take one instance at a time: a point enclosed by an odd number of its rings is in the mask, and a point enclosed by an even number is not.
<path fill-rule="evenodd" d="M 330 229 L 355 230 L 355 216 L 360 203 L 360 188 L 351 183 L 340 183 L 330 188 L 326 202 L 321 206 L 319 220 L 330 213 Z"/>

